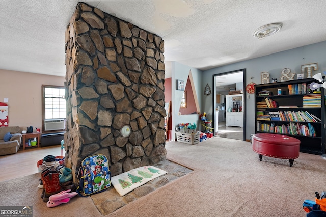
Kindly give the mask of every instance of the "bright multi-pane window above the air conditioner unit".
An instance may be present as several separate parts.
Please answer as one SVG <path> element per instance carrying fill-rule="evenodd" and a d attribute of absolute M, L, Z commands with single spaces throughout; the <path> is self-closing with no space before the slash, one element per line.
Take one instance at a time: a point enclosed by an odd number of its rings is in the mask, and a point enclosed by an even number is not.
<path fill-rule="evenodd" d="M 43 119 L 66 118 L 65 88 L 42 85 Z"/>

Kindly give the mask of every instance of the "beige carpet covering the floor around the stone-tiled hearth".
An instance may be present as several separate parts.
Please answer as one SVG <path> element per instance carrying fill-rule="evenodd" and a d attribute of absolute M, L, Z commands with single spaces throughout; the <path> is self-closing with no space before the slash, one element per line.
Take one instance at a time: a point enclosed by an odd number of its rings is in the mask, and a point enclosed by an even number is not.
<path fill-rule="evenodd" d="M 306 216 L 303 201 L 326 191 L 326 160 L 318 155 L 300 153 L 290 167 L 285 159 L 259 161 L 251 143 L 239 140 L 169 142 L 166 148 L 169 160 L 194 171 L 107 216 Z M 46 207 L 38 178 L 0 182 L 0 205 L 33 206 L 34 216 L 102 216 L 91 197 Z"/>

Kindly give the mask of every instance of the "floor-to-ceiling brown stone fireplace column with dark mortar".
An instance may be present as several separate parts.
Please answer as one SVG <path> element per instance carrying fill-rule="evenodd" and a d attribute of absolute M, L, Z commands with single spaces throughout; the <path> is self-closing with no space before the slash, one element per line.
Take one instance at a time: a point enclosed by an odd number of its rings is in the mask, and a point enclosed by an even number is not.
<path fill-rule="evenodd" d="M 164 41 L 85 3 L 66 36 L 66 167 L 104 154 L 112 175 L 166 159 Z"/>

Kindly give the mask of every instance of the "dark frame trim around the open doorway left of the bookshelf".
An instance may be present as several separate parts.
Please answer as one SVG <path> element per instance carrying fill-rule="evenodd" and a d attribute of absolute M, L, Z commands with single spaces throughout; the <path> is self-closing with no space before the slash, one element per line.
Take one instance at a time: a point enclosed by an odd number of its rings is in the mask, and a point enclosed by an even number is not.
<path fill-rule="evenodd" d="M 246 141 L 246 114 L 247 114 L 247 109 L 246 109 L 246 69 L 238 69 L 238 70 L 234 70 L 234 71 L 228 71 L 228 72 L 223 72 L 223 73 L 219 73 L 219 74 L 213 74 L 213 95 L 212 95 L 212 98 L 213 98 L 213 106 L 212 106 L 212 116 L 213 116 L 213 126 L 215 126 L 215 114 L 216 114 L 216 77 L 218 76 L 221 76 L 221 75 L 226 75 L 226 74 L 233 74 L 233 73 L 237 73 L 237 72 L 241 72 L 242 71 L 242 80 L 243 80 L 243 87 L 242 87 L 242 92 L 243 92 L 243 111 L 244 111 L 244 114 L 243 114 L 243 141 Z M 213 130 L 213 134 L 214 136 L 216 135 L 215 133 L 215 130 Z"/>

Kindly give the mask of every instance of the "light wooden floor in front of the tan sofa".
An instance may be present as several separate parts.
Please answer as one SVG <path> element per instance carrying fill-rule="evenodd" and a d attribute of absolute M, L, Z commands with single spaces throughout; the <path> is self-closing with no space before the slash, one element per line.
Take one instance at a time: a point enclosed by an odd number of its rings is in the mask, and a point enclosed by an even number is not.
<path fill-rule="evenodd" d="M 37 161 L 46 155 L 60 156 L 61 145 L 21 149 L 16 154 L 0 156 L 0 181 L 38 173 Z"/>

